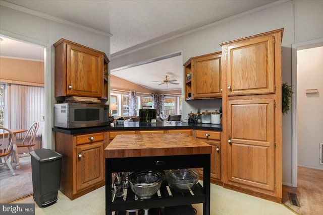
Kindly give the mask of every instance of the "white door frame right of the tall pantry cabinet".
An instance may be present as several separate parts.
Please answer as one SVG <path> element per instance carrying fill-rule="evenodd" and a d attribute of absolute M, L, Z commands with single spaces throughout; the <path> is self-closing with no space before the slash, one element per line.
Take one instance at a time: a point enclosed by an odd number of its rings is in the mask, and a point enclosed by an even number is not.
<path fill-rule="evenodd" d="M 323 45 L 323 38 L 292 44 L 292 186 L 297 187 L 297 50 Z"/>

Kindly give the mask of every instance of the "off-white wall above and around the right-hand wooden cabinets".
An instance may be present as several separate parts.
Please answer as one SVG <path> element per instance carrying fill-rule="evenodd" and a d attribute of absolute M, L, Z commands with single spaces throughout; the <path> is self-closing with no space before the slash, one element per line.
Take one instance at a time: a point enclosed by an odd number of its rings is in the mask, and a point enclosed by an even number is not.
<path fill-rule="evenodd" d="M 282 3 L 282 4 L 281 4 Z M 122 56 L 112 56 L 111 69 L 182 51 L 183 64 L 193 56 L 221 51 L 220 43 L 267 31 L 284 29 L 282 40 L 282 82 L 291 85 L 293 43 L 323 37 L 323 1 L 274 3 L 241 16 L 226 19 L 200 31 L 156 44 Z M 184 69 L 183 69 L 184 76 Z M 184 77 L 183 77 L 184 78 Z M 184 92 L 184 89 L 182 89 Z M 184 96 L 182 96 L 184 98 Z M 221 106 L 221 99 L 183 102 L 183 117 L 197 109 Z M 292 184 L 292 114 L 283 116 L 283 183 Z"/>

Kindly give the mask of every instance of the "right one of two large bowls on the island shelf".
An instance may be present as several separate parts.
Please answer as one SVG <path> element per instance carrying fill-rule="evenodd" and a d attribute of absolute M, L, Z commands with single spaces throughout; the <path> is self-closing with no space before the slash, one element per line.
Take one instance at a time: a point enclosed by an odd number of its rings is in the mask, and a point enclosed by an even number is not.
<path fill-rule="evenodd" d="M 178 192 L 188 192 L 197 184 L 200 174 L 196 169 L 177 169 L 165 171 L 166 180 Z"/>

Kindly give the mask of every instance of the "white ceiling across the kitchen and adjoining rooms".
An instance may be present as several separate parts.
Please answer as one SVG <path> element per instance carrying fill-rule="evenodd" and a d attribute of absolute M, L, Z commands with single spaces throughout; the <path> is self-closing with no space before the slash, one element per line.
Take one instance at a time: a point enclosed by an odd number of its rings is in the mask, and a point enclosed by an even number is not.
<path fill-rule="evenodd" d="M 6 2 L 86 26 L 103 34 L 112 34 L 111 56 L 113 57 L 275 1 L 277 0 L 7 0 Z M 8 50 L 3 42 L 0 55 L 15 55 L 14 49 Z M 35 55 L 36 51 L 30 51 L 29 48 L 25 47 L 19 51 L 16 49 L 16 54 L 19 53 L 18 57 L 31 59 L 39 59 L 42 56 L 41 59 L 43 59 L 41 48 L 37 47 L 38 57 Z M 23 56 L 23 53 L 26 55 Z M 181 57 L 169 59 L 174 62 L 174 68 L 171 64 L 162 66 L 163 61 L 156 62 L 155 66 L 155 63 L 152 63 L 141 65 L 139 68 L 128 68 L 127 78 L 142 86 L 147 86 L 147 83 L 151 84 L 152 81 L 163 80 L 164 76 L 168 75 L 167 73 L 179 76 L 179 78 L 174 78 L 179 80 L 182 76 L 182 59 L 179 58 Z M 114 75 L 119 73 L 125 73 L 125 71 L 119 70 Z M 139 77 L 138 73 L 143 75 Z M 129 74 L 134 76 L 130 77 Z M 178 86 L 181 85 L 173 86 L 180 89 Z M 158 89 L 154 88 L 156 85 L 147 87 L 156 91 L 171 90 L 170 85 L 168 87 L 160 85 Z"/>

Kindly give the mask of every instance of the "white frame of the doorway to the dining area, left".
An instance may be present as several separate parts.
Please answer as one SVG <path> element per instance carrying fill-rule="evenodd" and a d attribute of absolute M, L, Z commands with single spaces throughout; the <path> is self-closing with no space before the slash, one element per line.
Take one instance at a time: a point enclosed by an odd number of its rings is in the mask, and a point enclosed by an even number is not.
<path fill-rule="evenodd" d="M 44 119 L 44 139 L 42 147 L 45 149 L 55 150 L 53 142 L 53 132 L 51 130 L 52 125 L 52 79 L 51 79 L 51 45 L 39 40 L 35 40 L 23 35 L 15 34 L 1 29 L 1 35 L 21 40 L 23 42 L 29 42 L 44 47 L 44 90 L 45 90 L 45 119 Z"/>

